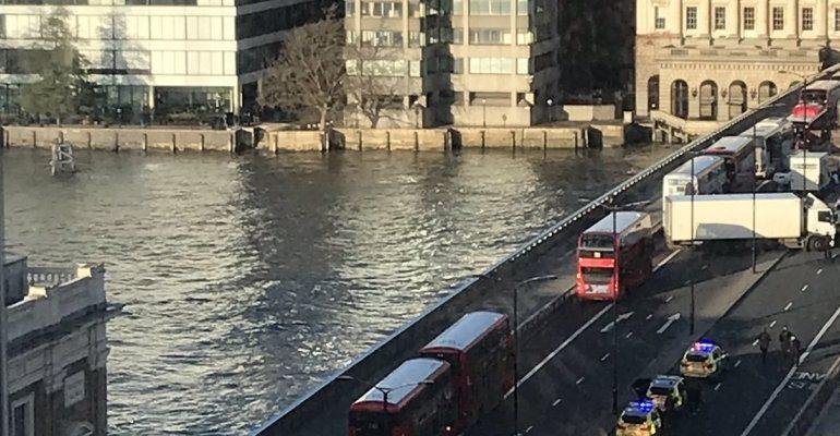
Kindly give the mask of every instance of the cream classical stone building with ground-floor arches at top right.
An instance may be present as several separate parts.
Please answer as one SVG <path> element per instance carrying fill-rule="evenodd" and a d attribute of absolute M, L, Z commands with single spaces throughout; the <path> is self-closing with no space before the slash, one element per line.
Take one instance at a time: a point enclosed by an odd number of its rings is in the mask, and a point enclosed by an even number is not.
<path fill-rule="evenodd" d="M 724 121 L 819 71 L 840 0 L 637 0 L 636 114 Z"/>

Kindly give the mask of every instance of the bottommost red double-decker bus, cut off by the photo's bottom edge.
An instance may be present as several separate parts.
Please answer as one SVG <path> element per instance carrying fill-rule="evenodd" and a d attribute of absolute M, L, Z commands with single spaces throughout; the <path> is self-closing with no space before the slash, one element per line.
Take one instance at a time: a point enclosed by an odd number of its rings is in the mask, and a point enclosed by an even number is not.
<path fill-rule="evenodd" d="M 448 363 L 403 362 L 350 405 L 350 436 L 451 436 L 457 417 Z"/>

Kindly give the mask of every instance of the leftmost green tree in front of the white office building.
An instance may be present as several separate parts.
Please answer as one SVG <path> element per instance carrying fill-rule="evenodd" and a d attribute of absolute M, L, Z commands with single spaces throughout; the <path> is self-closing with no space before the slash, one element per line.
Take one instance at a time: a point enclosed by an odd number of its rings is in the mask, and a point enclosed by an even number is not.
<path fill-rule="evenodd" d="M 85 60 L 75 47 L 69 21 L 64 8 L 56 8 L 43 17 L 41 47 L 33 50 L 27 65 L 38 80 L 21 88 L 23 110 L 50 114 L 59 124 L 63 117 L 88 113 L 95 105 L 93 84 L 87 81 Z"/>

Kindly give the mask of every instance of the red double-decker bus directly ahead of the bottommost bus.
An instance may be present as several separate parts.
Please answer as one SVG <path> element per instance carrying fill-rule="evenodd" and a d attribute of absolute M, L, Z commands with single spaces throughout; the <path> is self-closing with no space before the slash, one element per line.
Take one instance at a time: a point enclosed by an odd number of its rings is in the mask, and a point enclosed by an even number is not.
<path fill-rule="evenodd" d="M 507 315 L 472 312 L 429 342 L 420 355 L 452 365 L 460 432 L 493 410 L 514 384 L 514 349 Z"/>

